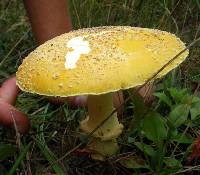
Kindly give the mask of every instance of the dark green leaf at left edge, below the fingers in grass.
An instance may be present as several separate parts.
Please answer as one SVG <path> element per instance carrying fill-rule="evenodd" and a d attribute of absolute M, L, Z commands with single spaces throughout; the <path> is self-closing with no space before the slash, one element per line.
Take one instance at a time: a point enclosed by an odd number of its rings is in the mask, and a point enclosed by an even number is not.
<path fill-rule="evenodd" d="M 15 154 L 16 147 L 10 144 L 0 145 L 0 160 L 5 160 Z"/>

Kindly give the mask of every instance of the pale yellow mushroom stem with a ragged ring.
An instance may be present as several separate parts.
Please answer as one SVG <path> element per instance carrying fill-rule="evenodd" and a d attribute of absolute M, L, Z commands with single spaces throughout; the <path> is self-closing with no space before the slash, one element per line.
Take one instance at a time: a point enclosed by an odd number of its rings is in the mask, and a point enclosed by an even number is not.
<path fill-rule="evenodd" d="M 90 95 L 88 97 L 89 116 L 85 120 L 81 121 L 80 128 L 84 132 L 90 133 L 97 128 L 113 110 L 114 107 L 112 93 L 103 95 Z M 99 152 L 103 156 L 114 154 L 118 148 L 116 138 L 121 134 L 122 129 L 123 125 L 119 123 L 117 114 L 114 113 L 93 134 L 94 139 L 90 145 L 88 145 L 88 148 Z"/>

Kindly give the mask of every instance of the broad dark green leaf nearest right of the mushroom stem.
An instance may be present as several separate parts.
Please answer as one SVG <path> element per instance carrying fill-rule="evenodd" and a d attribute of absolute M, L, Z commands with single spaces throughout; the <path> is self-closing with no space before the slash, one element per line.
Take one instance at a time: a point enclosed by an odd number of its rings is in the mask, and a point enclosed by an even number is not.
<path fill-rule="evenodd" d="M 160 141 L 167 137 L 165 121 L 157 112 L 149 112 L 143 121 L 143 131 L 145 136 L 152 141 Z"/>

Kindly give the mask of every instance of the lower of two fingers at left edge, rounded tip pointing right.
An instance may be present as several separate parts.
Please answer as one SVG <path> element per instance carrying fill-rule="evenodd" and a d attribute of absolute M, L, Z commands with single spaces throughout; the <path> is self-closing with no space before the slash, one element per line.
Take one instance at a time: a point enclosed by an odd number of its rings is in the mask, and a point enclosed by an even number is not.
<path fill-rule="evenodd" d="M 13 127 L 20 133 L 25 133 L 29 130 L 30 124 L 27 117 L 17 111 L 13 106 L 0 99 L 0 124 Z"/>

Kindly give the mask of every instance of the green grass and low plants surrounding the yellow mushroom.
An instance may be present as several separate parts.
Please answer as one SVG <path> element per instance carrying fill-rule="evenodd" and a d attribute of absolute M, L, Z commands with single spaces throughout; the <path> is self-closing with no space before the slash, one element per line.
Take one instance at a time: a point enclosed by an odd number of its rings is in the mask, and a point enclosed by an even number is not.
<path fill-rule="evenodd" d="M 74 29 L 100 25 L 158 28 L 175 33 L 187 44 L 200 36 L 198 0 L 70 0 L 69 4 Z M 72 152 L 80 144 L 77 126 L 85 109 L 56 106 L 44 97 L 21 93 L 16 106 L 27 114 L 32 129 L 22 136 L 0 128 L 0 174 L 198 174 L 198 157 L 192 162 L 188 158 L 200 134 L 199 91 L 193 95 L 191 90 L 200 80 L 199 46 L 199 42 L 192 46 L 189 59 L 156 83 L 157 98 L 149 110 L 141 109 L 140 97 L 125 92 L 132 98 L 120 120 L 129 129 L 118 139 L 120 153 L 106 162 L 93 161 L 80 149 Z M 35 47 L 22 2 L 0 1 L 0 83 L 16 72 Z M 181 119 L 177 118 L 180 113 Z M 129 123 L 136 118 L 140 127 L 131 128 Z M 156 131 L 149 119 L 158 126 Z"/>

